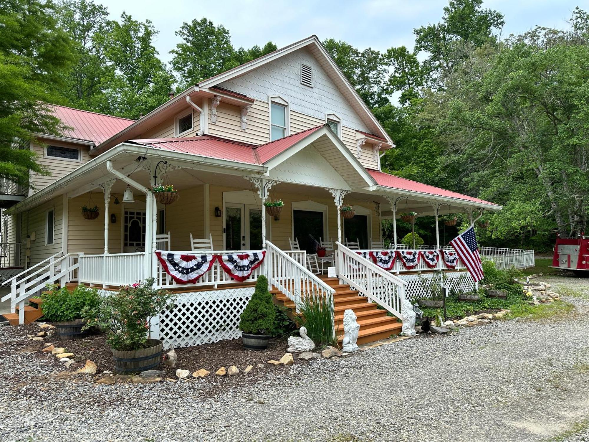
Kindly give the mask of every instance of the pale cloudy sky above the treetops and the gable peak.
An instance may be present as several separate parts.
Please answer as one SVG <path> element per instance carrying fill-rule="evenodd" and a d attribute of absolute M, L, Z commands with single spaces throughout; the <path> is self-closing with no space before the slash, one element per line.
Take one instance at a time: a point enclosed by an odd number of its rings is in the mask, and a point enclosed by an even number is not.
<path fill-rule="evenodd" d="M 255 0 L 94 0 L 107 6 L 111 18 L 125 11 L 138 20 L 150 19 L 160 34 L 155 47 L 164 61 L 184 21 L 207 17 L 229 29 L 234 47 L 262 46 L 272 40 L 280 48 L 316 34 L 319 39 L 343 39 L 363 50 L 413 47 L 413 28 L 440 21 L 445 0 L 255 1 Z M 502 34 L 519 34 L 542 25 L 564 27 L 574 7 L 587 0 L 488 0 L 485 8 L 505 15 Z"/>

